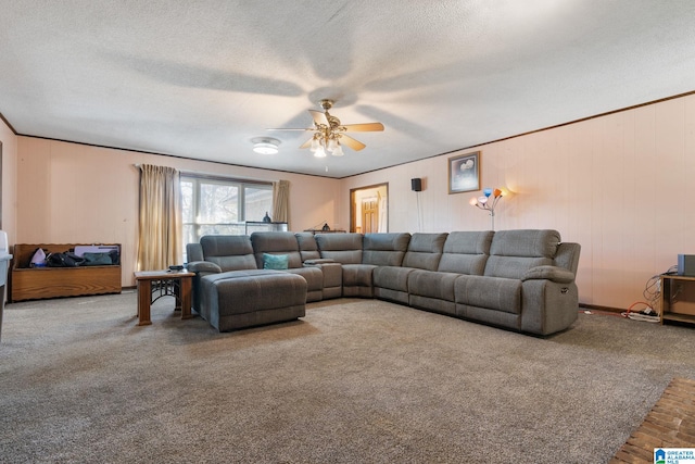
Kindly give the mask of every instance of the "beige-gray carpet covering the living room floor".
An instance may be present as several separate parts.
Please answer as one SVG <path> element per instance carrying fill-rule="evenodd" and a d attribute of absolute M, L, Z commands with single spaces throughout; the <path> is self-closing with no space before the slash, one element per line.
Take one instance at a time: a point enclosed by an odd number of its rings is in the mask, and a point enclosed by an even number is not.
<path fill-rule="evenodd" d="M 377 300 L 230 334 L 135 309 L 7 306 L 2 462 L 601 463 L 695 378 L 693 329 L 612 315 L 540 339 Z"/>

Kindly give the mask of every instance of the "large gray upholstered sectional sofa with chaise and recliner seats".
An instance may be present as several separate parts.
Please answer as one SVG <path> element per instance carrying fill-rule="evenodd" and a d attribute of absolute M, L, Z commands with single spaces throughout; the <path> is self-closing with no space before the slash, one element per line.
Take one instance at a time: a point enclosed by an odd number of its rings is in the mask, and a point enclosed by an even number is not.
<path fill-rule="evenodd" d="M 220 331 L 302 317 L 302 297 L 359 297 L 545 336 L 577 319 L 579 254 L 549 229 L 254 233 L 189 243 L 187 266 L 194 310 Z"/>

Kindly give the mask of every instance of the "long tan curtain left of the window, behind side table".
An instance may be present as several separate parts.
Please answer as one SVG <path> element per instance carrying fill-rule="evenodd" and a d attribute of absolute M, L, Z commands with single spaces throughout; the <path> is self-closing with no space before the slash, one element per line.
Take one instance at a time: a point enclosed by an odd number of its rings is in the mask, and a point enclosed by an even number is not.
<path fill-rule="evenodd" d="M 140 236 L 138 271 L 181 264 L 181 197 L 173 167 L 140 166 Z"/>

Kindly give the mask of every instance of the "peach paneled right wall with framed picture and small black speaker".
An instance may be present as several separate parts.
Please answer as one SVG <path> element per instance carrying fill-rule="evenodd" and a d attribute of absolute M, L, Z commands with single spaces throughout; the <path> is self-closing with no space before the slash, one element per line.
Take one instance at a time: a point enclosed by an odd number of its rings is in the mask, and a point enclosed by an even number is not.
<path fill-rule="evenodd" d="M 581 243 L 584 304 L 627 309 L 679 253 L 695 254 L 695 96 L 462 153 L 476 150 L 482 187 L 513 191 L 495 229 L 555 228 Z M 388 181 L 390 231 L 489 229 L 486 213 L 468 204 L 480 192 L 448 195 L 452 155 L 342 179 L 339 222 L 348 224 L 350 189 Z"/>

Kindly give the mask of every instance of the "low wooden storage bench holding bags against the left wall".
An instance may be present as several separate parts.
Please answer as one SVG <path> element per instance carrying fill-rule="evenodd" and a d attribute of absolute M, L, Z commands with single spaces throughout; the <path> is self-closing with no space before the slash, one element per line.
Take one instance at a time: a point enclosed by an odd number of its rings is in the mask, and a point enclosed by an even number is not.
<path fill-rule="evenodd" d="M 75 249 L 83 243 L 17 243 L 12 252 L 11 302 L 56 297 L 121 293 L 121 264 L 79 267 L 29 267 L 37 248 L 48 254 Z M 117 246 L 118 243 L 108 243 Z"/>

